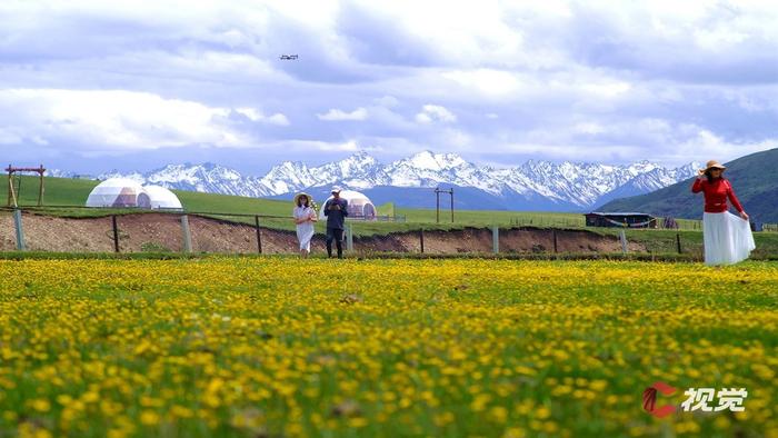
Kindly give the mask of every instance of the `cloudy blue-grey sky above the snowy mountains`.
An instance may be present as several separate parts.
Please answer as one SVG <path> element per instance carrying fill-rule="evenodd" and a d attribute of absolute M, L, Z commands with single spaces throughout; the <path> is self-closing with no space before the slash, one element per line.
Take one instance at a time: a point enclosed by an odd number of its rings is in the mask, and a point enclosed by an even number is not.
<path fill-rule="evenodd" d="M 1 161 L 262 173 L 356 150 L 675 166 L 778 147 L 772 1 L 378 3 L 2 0 Z"/>

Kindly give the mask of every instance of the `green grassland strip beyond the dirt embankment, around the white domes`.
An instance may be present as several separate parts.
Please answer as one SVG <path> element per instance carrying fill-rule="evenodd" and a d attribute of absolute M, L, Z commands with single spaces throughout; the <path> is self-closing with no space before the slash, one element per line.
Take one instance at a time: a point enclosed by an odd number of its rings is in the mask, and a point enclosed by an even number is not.
<path fill-rule="evenodd" d="M 83 206 L 91 189 L 98 181 L 78 180 L 67 178 L 46 178 L 44 203 L 50 208 L 42 208 L 40 211 L 47 215 L 66 217 L 99 217 L 113 213 L 149 212 L 148 210 L 136 209 L 87 209 L 77 208 Z M 33 177 L 22 178 L 22 190 L 20 203 L 22 206 L 34 206 L 37 201 L 38 180 Z M 192 191 L 174 190 L 187 211 L 209 212 L 210 217 L 245 223 L 255 223 L 253 217 L 230 216 L 237 215 L 261 215 L 276 216 L 281 218 L 262 217 L 262 227 L 293 230 L 295 225 L 290 219 L 291 202 L 272 199 L 247 198 L 238 196 L 200 193 Z M 68 207 L 58 207 L 68 206 Z M 483 210 L 457 210 L 455 221 L 450 222 L 450 212 L 441 210 L 440 223 L 436 222 L 436 211 L 433 209 L 408 209 L 398 208 L 392 203 L 378 207 L 379 215 L 397 215 L 402 221 L 392 222 L 352 222 L 355 236 L 386 235 L 390 232 L 415 231 L 423 228 L 426 230 L 452 230 L 466 227 L 537 227 L 537 228 L 565 228 L 582 229 L 601 235 L 618 235 L 620 230 L 612 228 L 585 227 L 584 215 L 565 212 L 533 212 L 533 211 L 483 211 Z M 681 237 L 684 252 L 701 253 L 702 235 L 700 232 L 700 221 L 677 219 L 681 230 L 656 230 L 656 229 L 628 229 L 626 230 L 629 240 L 644 242 L 651 252 L 676 252 L 676 233 Z M 317 223 L 317 231 L 323 232 L 325 225 Z M 778 233 L 757 232 L 757 250 L 755 256 L 778 253 Z"/>

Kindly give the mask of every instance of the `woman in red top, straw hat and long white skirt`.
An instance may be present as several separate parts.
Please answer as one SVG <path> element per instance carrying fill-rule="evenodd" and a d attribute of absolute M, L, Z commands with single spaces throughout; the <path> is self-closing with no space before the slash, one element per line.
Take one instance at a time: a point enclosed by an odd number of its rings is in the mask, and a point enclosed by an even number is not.
<path fill-rule="evenodd" d="M 705 242 L 705 263 L 732 265 L 748 258 L 756 248 L 754 235 L 748 222 L 748 215 L 735 196 L 729 180 L 722 173 L 726 167 L 716 160 L 708 161 L 705 169 L 691 186 L 692 193 L 705 193 L 705 212 L 702 213 L 702 240 Z M 740 217 L 727 209 L 727 198 L 738 210 Z"/>

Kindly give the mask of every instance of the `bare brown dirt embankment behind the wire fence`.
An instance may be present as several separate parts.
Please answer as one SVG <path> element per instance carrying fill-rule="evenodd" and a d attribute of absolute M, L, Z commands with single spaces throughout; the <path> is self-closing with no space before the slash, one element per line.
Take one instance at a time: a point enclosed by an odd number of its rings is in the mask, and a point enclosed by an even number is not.
<path fill-rule="evenodd" d="M 174 215 L 142 213 L 117 218 L 119 246 L 122 252 L 181 251 L 183 239 L 181 221 Z M 24 241 L 30 250 L 112 252 L 113 231 L 111 218 L 70 219 L 51 216 L 24 215 L 22 219 Z M 196 252 L 246 252 L 256 253 L 257 230 L 253 227 L 220 221 L 199 216 L 189 216 L 192 250 Z M 609 236 L 599 236 L 585 230 L 547 230 L 535 228 L 501 229 L 500 252 L 551 252 L 553 235 L 559 252 L 618 252 L 621 243 Z M 261 229 L 262 252 L 282 253 L 297 251 L 297 237 L 292 231 Z M 466 228 L 453 231 L 425 231 L 425 252 L 490 252 L 491 230 Z M 420 232 L 397 232 L 387 236 L 355 237 L 357 251 L 419 252 Z M 13 219 L 0 216 L 0 250 L 16 248 Z M 315 236 L 311 243 L 315 252 L 325 250 L 323 236 Z M 630 242 L 630 251 L 646 251 L 642 245 Z"/>

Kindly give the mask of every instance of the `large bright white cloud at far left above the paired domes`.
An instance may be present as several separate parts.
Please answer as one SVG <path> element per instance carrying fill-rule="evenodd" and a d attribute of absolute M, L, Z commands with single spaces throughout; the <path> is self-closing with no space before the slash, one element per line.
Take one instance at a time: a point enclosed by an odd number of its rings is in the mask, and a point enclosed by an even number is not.
<path fill-rule="evenodd" d="M 83 149 L 250 143 L 230 127 L 230 111 L 124 90 L 0 90 L 0 113 L 6 115 L 0 132 L 36 143 L 67 140 Z"/>

